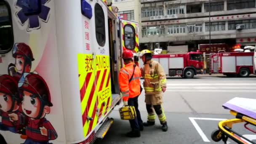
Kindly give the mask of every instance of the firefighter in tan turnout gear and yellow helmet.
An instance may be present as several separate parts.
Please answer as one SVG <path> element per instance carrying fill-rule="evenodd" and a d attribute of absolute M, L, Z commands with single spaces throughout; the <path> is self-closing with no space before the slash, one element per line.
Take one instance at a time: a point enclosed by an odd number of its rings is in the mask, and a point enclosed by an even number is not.
<path fill-rule="evenodd" d="M 162 91 L 166 90 L 166 76 L 163 67 L 152 60 L 152 53 L 149 50 L 142 50 L 140 58 L 144 62 L 141 68 L 141 76 L 144 77 L 145 102 L 148 112 L 147 123 L 144 126 L 155 125 L 155 113 L 162 125 L 162 131 L 167 131 L 165 113 L 162 107 Z M 153 111 L 155 109 L 155 113 Z"/>

